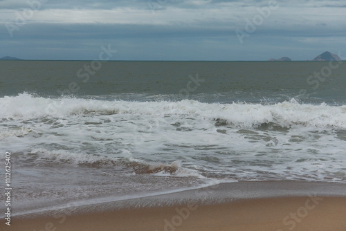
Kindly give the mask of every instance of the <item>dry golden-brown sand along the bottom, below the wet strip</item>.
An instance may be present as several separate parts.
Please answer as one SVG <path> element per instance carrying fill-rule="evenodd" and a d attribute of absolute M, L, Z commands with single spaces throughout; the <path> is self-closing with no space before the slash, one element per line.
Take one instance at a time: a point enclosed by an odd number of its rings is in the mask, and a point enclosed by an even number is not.
<path fill-rule="evenodd" d="M 233 203 L 146 207 L 57 214 L 35 219 L 13 219 L 1 230 L 128 230 L 128 231 L 344 231 L 346 197 L 286 197 L 245 199 Z"/>

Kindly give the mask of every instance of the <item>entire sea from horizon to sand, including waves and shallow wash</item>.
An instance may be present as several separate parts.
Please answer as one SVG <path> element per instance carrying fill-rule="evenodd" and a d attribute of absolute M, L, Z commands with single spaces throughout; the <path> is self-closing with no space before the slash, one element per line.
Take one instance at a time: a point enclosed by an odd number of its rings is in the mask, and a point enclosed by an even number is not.
<path fill-rule="evenodd" d="M 345 62 L 0 69 L 15 214 L 221 182 L 346 181 Z"/>

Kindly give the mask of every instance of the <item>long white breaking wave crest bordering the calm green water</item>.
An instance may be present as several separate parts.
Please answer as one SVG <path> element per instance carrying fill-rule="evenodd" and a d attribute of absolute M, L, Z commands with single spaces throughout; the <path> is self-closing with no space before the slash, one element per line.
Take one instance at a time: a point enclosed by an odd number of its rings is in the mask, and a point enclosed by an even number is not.
<path fill-rule="evenodd" d="M 88 114 L 151 115 L 153 118 L 177 116 L 203 119 L 234 127 L 251 128 L 263 124 L 294 124 L 312 127 L 346 129 L 346 105 L 301 104 L 295 99 L 276 104 L 203 103 L 196 100 L 178 102 L 104 101 L 80 98 L 42 98 L 28 93 L 0 98 L 0 118 L 23 120 L 33 118 Z"/>

